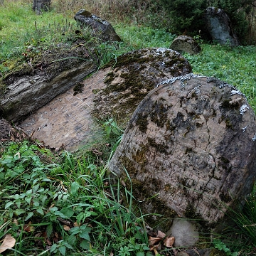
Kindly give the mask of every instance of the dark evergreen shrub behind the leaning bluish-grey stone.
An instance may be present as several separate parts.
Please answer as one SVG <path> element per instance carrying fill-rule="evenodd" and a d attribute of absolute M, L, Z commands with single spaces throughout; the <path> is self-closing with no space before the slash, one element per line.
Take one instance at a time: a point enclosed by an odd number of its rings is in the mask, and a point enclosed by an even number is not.
<path fill-rule="evenodd" d="M 202 31 L 206 36 L 206 27 L 203 23 L 203 13 L 209 6 L 223 9 L 230 17 L 233 28 L 238 38 L 245 43 L 250 23 L 247 16 L 250 16 L 254 0 L 160 0 L 161 4 L 169 10 L 171 15 L 171 31 L 173 33 L 184 33 L 194 36 Z"/>

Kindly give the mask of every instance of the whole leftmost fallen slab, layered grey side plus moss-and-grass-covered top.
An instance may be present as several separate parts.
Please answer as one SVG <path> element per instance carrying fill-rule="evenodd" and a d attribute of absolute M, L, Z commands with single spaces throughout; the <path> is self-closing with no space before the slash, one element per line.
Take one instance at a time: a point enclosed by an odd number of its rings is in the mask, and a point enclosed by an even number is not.
<path fill-rule="evenodd" d="M 81 46 L 70 49 L 65 44 L 47 50 L 38 58 L 24 63 L 21 70 L 6 76 L 1 82 L 6 89 L 0 95 L 2 116 L 17 122 L 46 105 L 60 93 L 81 82 L 98 67 L 93 53 Z"/>

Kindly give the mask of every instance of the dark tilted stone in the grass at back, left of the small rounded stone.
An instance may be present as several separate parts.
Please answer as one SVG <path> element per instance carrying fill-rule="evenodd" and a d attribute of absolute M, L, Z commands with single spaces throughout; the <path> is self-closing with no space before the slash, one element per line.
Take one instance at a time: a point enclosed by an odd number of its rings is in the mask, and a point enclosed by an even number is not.
<path fill-rule="evenodd" d="M 102 41 L 122 41 L 108 21 L 95 14 L 91 14 L 89 11 L 82 9 L 75 14 L 74 18 L 75 21 L 80 23 L 80 26 L 89 26 L 92 28 L 95 36 L 102 39 Z"/>

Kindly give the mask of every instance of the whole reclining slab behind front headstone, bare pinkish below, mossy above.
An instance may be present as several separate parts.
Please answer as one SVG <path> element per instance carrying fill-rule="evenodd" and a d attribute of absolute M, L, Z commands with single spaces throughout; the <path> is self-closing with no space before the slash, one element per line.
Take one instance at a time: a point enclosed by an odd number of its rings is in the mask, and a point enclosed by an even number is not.
<path fill-rule="evenodd" d="M 21 122 L 20 127 L 50 147 L 73 151 L 100 139 L 96 120 L 110 117 L 127 127 L 144 97 L 164 79 L 191 73 L 174 50 L 147 48 L 121 55 L 78 86 L 58 95 Z"/>

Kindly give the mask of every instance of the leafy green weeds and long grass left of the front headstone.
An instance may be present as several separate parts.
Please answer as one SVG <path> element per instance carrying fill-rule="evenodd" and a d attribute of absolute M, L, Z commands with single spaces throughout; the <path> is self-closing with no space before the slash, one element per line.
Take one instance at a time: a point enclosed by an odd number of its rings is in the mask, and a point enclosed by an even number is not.
<path fill-rule="evenodd" d="M 106 142 L 118 143 L 122 130 L 112 120 L 104 127 Z M 114 184 L 91 151 L 54 155 L 26 141 L 1 149 L 0 238 L 16 239 L 11 255 L 144 255 L 149 250 L 132 191 Z"/>

